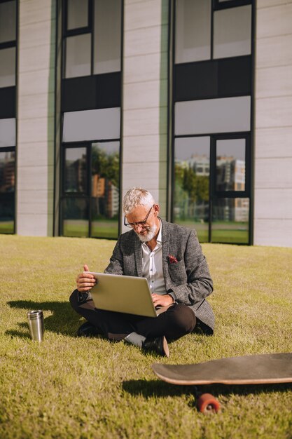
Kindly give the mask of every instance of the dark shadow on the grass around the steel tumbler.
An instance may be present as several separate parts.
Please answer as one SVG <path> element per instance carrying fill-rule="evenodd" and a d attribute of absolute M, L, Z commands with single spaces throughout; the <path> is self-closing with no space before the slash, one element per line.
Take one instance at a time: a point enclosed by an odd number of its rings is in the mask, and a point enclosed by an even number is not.
<path fill-rule="evenodd" d="M 50 311 L 52 314 L 43 320 L 45 330 L 57 332 L 59 334 L 76 335 L 76 330 L 80 324 L 80 316 L 71 308 L 69 302 L 34 302 L 32 300 L 15 300 L 8 302 L 11 308 L 24 309 L 31 311 L 32 309 L 42 309 L 43 311 Z M 27 328 L 27 313 L 24 312 L 25 320 L 18 323 L 20 327 Z M 13 337 L 29 337 L 29 333 L 25 334 L 17 330 L 6 331 L 7 335 Z"/>

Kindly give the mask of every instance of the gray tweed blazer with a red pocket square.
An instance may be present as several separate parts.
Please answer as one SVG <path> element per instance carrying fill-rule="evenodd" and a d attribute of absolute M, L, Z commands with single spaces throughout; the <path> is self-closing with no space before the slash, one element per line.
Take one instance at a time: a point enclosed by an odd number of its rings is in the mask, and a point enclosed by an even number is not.
<path fill-rule="evenodd" d="M 214 313 L 206 300 L 213 291 L 207 261 L 195 230 L 162 221 L 162 267 L 165 290 L 172 292 L 177 304 L 185 304 L 195 316 L 214 330 Z M 178 262 L 170 263 L 169 255 Z M 105 273 L 142 276 L 141 241 L 134 230 L 120 235 Z M 210 331 L 211 330 L 211 331 Z"/>

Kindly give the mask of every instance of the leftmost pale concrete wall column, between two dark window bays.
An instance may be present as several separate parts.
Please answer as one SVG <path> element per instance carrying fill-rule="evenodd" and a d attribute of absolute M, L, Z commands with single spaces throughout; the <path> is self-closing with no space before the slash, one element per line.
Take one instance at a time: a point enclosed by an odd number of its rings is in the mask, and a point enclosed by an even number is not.
<path fill-rule="evenodd" d="M 55 0 L 20 0 L 17 234 L 53 234 Z"/>

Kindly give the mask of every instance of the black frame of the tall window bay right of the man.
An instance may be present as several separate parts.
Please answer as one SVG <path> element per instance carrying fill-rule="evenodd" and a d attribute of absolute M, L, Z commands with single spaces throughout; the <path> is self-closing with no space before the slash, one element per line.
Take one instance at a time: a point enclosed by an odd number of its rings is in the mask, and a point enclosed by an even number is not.
<path fill-rule="evenodd" d="M 226 8 L 234 8 L 237 6 L 245 6 L 251 4 L 251 54 L 250 55 L 240 55 L 240 57 L 228 57 L 228 58 L 214 58 L 213 56 L 213 45 L 214 45 L 214 12 L 226 9 Z M 169 101 L 169 158 L 170 158 L 170 166 L 169 166 L 169 220 L 172 221 L 174 218 L 174 170 L 175 170 L 175 151 L 174 151 L 174 143 L 175 139 L 178 137 L 210 137 L 210 173 L 209 173 L 209 238 L 208 241 L 211 243 L 211 227 L 213 222 L 213 204 L 214 201 L 218 198 L 249 198 L 249 236 L 247 245 L 251 245 L 253 243 L 253 102 L 254 102 L 254 50 L 255 50 L 255 0 L 230 0 L 225 1 L 219 4 L 218 0 L 211 0 L 211 58 L 210 60 L 202 60 L 196 62 L 188 62 L 188 63 L 180 63 L 176 64 L 176 48 L 175 48 L 175 20 L 176 20 L 176 1 L 172 0 L 171 8 L 170 8 L 170 21 L 171 21 L 171 29 L 169 35 L 172 37 L 170 40 L 169 46 L 169 77 L 171 78 L 171 82 L 169 83 L 169 93 L 170 93 L 170 101 Z M 176 99 L 176 68 L 186 66 L 188 69 L 190 66 L 194 66 L 196 68 L 197 65 L 203 65 L 207 63 L 232 63 L 237 62 L 237 60 L 246 60 L 249 59 L 250 63 L 250 83 L 246 83 L 246 87 L 249 88 L 250 93 L 244 95 L 249 95 L 251 97 L 251 109 L 250 109 L 250 130 L 244 132 L 228 132 L 228 133 L 202 133 L 197 135 L 175 135 L 174 133 L 174 106 L 176 102 L 188 101 L 188 100 L 202 100 L 202 99 L 210 99 L 214 98 L 214 95 L 204 95 L 200 97 L 196 97 L 194 95 L 188 96 L 183 95 L 183 99 Z M 216 66 L 215 66 L 216 67 Z M 214 68 L 215 68 L 214 67 Z M 249 65 L 247 65 L 249 68 Z M 218 92 L 217 92 L 218 93 Z M 220 95 L 216 95 L 216 97 L 239 97 L 242 95 L 242 92 L 237 93 L 236 90 L 229 90 L 228 93 L 218 93 Z M 235 139 L 242 138 L 246 139 L 246 184 L 244 191 L 216 191 L 216 140 L 223 139 Z M 216 241 L 217 242 L 217 241 Z M 224 241 L 223 241 L 224 243 Z M 235 243 L 235 242 L 234 242 Z M 235 243 L 237 245 L 246 245 L 246 243 Z"/>

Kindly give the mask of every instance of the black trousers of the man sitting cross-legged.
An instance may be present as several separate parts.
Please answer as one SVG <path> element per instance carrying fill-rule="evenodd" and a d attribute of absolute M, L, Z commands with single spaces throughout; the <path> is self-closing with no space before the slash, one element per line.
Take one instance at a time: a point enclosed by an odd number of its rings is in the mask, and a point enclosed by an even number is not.
<path fill-rule="evenodd" d="M 192 332 L 196 324 L 193 311 L 181 304 L 169 306 L 167 311 L 153 318 L 103 311 L 95 308 L 93 300 L 80 304 L 77 290 L 72 292 L 70 303 L 78 314 L 96 326 L 105 337 L 116 341 L 124 339 L 131 332 L 144 337 L 164 335 L 167 341 L 176 340 Z"/>

